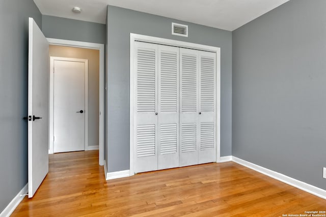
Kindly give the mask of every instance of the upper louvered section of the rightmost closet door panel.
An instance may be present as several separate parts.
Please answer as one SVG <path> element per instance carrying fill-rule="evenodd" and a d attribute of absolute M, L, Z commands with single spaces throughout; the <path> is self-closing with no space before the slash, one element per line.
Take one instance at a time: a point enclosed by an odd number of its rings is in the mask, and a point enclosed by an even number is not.
<path fill-rule="evenodd" d="M 201 111 L 214 111 L 214 59 L 201 57 Z"/>

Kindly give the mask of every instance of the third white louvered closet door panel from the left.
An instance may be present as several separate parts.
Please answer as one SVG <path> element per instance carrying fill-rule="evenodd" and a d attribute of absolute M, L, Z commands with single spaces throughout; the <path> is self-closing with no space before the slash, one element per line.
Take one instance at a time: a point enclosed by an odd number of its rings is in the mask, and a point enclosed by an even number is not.
<path fill-rule="evenodd" d="M 180 48 L 180 167 L 198 164 L 198 52 Z"/>

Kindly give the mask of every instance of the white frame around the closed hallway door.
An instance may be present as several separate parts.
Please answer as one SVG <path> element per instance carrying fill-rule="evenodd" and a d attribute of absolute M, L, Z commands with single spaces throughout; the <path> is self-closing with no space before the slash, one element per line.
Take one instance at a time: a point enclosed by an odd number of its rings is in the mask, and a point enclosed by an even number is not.
<path fill-rule="evenodd" d="M 68 57 L 58 57 L 58 56 L 50 56 L 50 97 L 49 97 L 49 144 L 50 149 L 52 152 L 55 150 L 54 146 L 54 136 L 55 136 L 55 129 L 54 129 L 54 114 L 55 114 L 55 105 L 54 105 L 54 97 L 55 97 L 55 78 L 54 78 L 54 70 L 55 60 L 62 60 L 62 61 L 75 61 L 78 63 L 84 63 L 84 110 L 85 110 L 85 120 L 84 120 L 84 150 L 88 149 L 88 59 L 79 59 L 79 58 L 68 58 Z M 52 138 L 52 139 L 51 139 Z"/>

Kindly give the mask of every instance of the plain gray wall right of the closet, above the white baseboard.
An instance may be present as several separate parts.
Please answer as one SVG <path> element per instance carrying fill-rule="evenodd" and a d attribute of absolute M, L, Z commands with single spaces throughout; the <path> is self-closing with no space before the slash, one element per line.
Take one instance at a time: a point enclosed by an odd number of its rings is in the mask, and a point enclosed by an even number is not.
<path fill-rule="evenodd" d="M 290 1 L 232 33 L 233 156 L 324 190 L 325 8 Z"/>

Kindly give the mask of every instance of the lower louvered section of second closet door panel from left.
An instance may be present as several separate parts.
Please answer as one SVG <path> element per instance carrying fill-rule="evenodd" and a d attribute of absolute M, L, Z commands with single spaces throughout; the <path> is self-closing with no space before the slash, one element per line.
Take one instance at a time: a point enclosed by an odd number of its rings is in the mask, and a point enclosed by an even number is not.
<path fill-rule="evenodd" d="M 160 153 L 169 154 L 177 152 L 177 125 L 160 125 Z"/>

